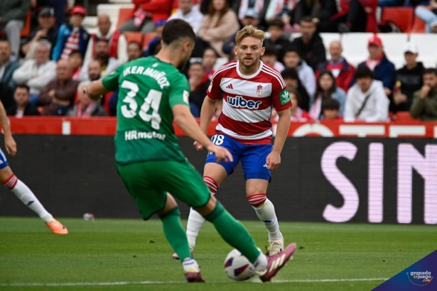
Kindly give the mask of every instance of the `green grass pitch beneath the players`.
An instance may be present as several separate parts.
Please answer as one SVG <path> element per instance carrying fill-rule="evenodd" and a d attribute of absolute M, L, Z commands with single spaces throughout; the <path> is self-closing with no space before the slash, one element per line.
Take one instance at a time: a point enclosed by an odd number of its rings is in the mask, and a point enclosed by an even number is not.
<path fill-rule="evenodd" d="M 286 243 L 296 242 L 298 251 L 276 282 L 232 282 L 223 270 L 231 248 L 205 224 L 195 258 L 210 283 L 189 285 L 158 220 L 60 221 L 67 236 L 51 234 L 36 218 L 0 218 L 0 290 L 372 290 L 437 241 L 435 226 L 282 222 Z M 264 226 L 244 225 L 264 248 Z"/>

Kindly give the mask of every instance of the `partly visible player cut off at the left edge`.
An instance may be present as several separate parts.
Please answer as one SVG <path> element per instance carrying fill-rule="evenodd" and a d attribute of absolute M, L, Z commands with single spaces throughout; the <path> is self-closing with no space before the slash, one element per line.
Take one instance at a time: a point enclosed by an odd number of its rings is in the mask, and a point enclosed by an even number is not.
<path fill-rule="evenodd" d="M 28 89 L 27 89 L 28 90 Z M 4 145 L 6 151 L 14 156 L 16 155 L 16 143 L 9 128 L 9 120 L 4 111 L 4 106 L 0 101 L 0 123 L 4 131 Z M 28 208 L 38 214 L 43 219 L 45 225 L 55 234 L 68 234 L 67 228 L 63 226 L 58 220 L 54 219 L 52 214 L 48 213 L 43 207 L 35 194 L 24 184 L 18 180 L 14 172 L 9 167 L 8 161 L 4 153 L 0 150 L 0 181 L 4 187 L 13 192 L 18 199 L 21 200 Z"/>

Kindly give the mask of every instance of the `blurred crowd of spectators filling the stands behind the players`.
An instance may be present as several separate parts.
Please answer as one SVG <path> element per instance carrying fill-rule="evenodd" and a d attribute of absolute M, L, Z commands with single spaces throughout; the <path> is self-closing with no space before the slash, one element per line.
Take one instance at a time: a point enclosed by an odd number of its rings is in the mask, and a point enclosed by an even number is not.
<path fill-rule="evenodd" d="M 399 31 L 394 23 L 377 23 L 377 6 L 414 6 L 426 32 L 437 33 L 436 0 L 230 2 L 132 0 L 127 21 L 114 29 L 110 17 L 100 14 L 97 33 L 90 34 L 83 26 L 87 11 L 74 0 L 0 0 L 0 99 L 10 116 L 115 116 L 117 91 L 95 102 L 80 89 L 129 60 L 155 55 L 166 21 L 182 18 L 198 36 L 189 64 L 180 68 L 190 83 L 194 116 L 200 114 L 217 59 L 234 60 L 234 35 L 253 25 L 266 31 L 261 60 L 281 72 L 293 121 L 389 121 L 389 112 L 399 111 L 437 120 L 436 64 L 417 61 L 416 43 L 404 44 L 405 65 L 396 70 L 375 34 L 367 42 L 368 56 L 355 67 L 343 57 L 340 41 L 325 48 L 319 34 Z M 37 25 L 21 38 L 31 15 Z M 131 31 L 152 37 L 144 46 L 129 40 Z"/>

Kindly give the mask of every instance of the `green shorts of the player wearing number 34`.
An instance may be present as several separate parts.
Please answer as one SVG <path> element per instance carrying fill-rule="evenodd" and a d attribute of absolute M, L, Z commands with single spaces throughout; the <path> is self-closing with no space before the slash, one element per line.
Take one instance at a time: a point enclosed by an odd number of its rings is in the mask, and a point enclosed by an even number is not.
<path fill-rule="evenodd" d="M 190 207 L 203 207 L 210 200 L 202 176 L 186 160 L 117 163 L 117 172 L 144 220 L 164 209 L 167 192 Z"/>

